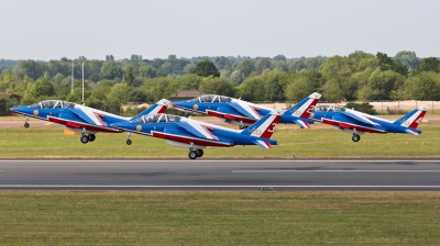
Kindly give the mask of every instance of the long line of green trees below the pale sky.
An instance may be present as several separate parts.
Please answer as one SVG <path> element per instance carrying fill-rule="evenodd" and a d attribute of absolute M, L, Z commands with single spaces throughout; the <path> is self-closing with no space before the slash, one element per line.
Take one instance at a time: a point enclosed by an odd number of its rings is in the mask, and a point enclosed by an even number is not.
<path fill-rule="evenodd" d="M 91 107 L 155 102 L 177 90 L 202 90 L 248 101 L 296 102 L 314 91 L 322 100 L 440 100 L 440 60 L 415 52 L 396 56 L 354 52 L 348 56 L 193 57 L 116 60 L 19 60 L 3 68 L 0 92 L 22 96 L 22 104 L 61 99 Z M 74 91 L 72 91 L 74 68 Z"/>

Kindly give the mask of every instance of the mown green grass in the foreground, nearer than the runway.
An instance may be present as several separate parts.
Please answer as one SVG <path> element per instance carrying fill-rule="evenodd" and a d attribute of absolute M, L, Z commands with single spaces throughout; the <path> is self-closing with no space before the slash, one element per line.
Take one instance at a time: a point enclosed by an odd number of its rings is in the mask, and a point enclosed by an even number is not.
<path fill-rule="evenodd" d="M 439 245 L 440 192 L 0 191 L 0 245 Z"/>

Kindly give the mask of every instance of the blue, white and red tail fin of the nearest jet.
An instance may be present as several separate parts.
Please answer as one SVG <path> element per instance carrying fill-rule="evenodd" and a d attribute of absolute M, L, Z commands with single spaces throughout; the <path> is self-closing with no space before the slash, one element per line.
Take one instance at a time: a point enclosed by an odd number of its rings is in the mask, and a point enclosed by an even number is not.
<path fill-rule="evenodd" d="M 243 130 L 241 134 L 271 138 L 284 112 L 284 110 L 279 109 L 272 110 L 271 113 L 266 114 L 263 119 Z"/>

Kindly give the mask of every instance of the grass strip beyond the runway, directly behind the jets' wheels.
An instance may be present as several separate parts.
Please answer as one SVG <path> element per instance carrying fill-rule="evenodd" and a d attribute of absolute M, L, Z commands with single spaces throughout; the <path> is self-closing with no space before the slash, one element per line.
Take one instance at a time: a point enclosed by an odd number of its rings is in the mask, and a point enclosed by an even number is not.
<path fill-rule="evenodd" d="M 205 158 L 438 158 L 440 124 L 424 123 L 422 134 L 364 134 L 359 143 L 351 135 L 328 126 L 310 130 L 280 125 L 272 149 L 257 146 L 208 147 Z M 64 135 L 61 127 L 0 128 L 0 158 L 188 158 L 188 149 L 170 146 L 164 139 L 125 134 L 97 134 L 94 143 L 81 144 L 79 135 Z"/>

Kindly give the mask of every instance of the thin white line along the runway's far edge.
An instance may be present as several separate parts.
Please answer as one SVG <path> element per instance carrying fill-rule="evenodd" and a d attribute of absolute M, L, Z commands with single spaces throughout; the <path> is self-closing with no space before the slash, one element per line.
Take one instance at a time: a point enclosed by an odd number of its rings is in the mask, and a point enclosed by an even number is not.
<path fill-rule="evenodd" d="M 1 159 L 0 163 L 440 163 L 440 159 Z"/>

